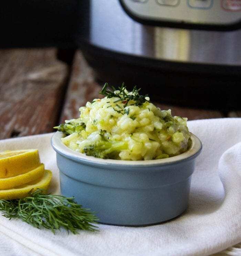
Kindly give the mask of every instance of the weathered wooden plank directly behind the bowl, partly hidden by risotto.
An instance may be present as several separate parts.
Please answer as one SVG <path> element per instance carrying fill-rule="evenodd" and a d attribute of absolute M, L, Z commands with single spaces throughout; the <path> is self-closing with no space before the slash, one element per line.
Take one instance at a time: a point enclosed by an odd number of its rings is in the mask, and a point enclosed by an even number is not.
<path fill-rule="evenodd" d="M 78 108 L 84 106 L 86 101 L 101 98 L 102 95 L 99 95 L 99 91 L 102 86 L 103 84 L 99 85 L 95 81 L 93 70 L 88 66 L 81 52 L 77 51 L 60 123 L 64 122 L 66 119 L 79 117 L 80 112 Z M 164 105 L 160 104 L 160 102 L 154 102 L 154 104 L 161 109 L 167 110 L 170 108 L 172 115 L 187 117 L 188 120 L 224 117 L 219 111 Z"/>

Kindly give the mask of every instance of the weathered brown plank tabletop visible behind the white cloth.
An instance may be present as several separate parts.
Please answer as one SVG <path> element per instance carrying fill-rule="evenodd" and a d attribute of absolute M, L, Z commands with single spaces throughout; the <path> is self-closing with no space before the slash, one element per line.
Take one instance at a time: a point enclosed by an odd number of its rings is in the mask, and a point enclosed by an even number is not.
<path fill-rule="evenodd" d="M 95 81 L 80 50 L 71 65 L 56 56 L 54 48 L 0 50 L 0 139 L 51 132 L 65 119 L 78 117 L 86 101 L 99 98 L 103 84 Z M 239 111 L 224 114 L 155 103 L 188 120 L 241 116 Z"/>

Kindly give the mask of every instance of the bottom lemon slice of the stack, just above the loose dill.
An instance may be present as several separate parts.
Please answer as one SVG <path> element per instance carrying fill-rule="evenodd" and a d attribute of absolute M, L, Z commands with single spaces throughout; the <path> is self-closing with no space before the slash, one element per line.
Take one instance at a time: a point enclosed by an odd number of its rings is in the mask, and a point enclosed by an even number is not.
<path fill-rule="evenodd" d="M 45 170 L 42 178 L 35 181 L 27 183 L 25 185 L 17 186 L 12 189 L 0 190 L 0 199 L 12 200 L 19 199 L 29 196 L 29 191 L 39 189 L 48 189 L 50 180 L 52 178 L 52 172 L 50 170 Z"/>

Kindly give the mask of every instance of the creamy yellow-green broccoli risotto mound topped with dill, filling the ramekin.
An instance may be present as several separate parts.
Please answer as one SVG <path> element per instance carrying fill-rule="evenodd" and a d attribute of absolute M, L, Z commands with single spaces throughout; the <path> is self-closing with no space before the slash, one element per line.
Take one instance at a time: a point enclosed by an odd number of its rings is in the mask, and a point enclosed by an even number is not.
<path fill-rule="evenodd" d="M 176 156 L 189 147 L 187 118 L 160 110 L 134 87 L 107 90 L 103 99 L 80 107 L 80 118 L 57 128 L 63 143 L 86 155 L 120 160 L 151 160 Z"/>

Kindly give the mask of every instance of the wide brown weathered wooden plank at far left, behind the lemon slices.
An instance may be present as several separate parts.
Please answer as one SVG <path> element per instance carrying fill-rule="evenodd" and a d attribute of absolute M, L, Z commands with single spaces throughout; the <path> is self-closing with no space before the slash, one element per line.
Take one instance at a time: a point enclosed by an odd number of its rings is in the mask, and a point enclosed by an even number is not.
<path fill-rule="evenodd" d="M 0 138 L 51 132 L 68 75 L 56 50 L 0 50 L 0 70 Z"/>

